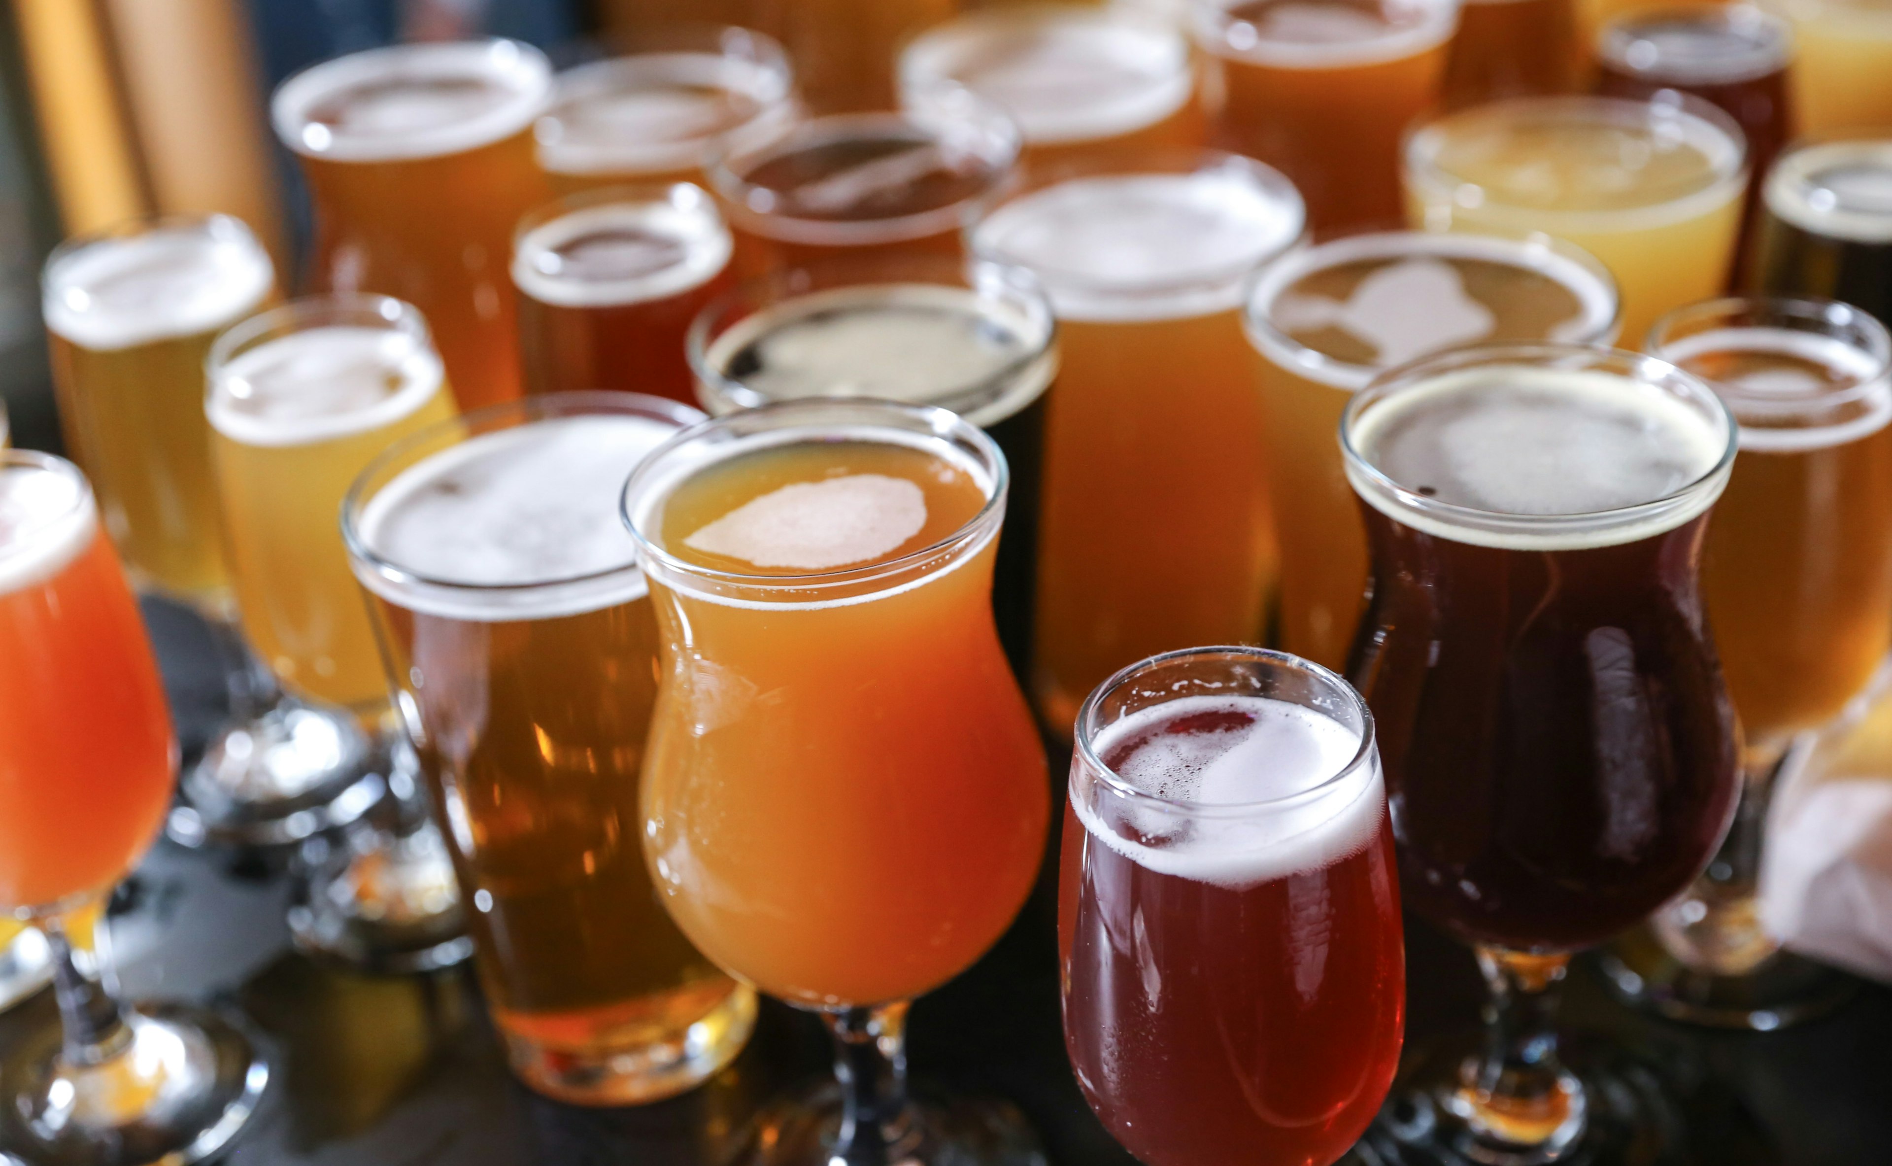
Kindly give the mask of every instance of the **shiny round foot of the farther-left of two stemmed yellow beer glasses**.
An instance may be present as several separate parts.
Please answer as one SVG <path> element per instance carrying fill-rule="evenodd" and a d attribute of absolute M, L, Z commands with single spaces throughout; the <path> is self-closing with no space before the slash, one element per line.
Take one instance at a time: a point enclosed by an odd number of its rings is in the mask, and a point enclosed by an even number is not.
<path fill-rule="evenodd" d="M 358 822 L 386 780 L 356 719 L 284 697 L 229 725 L 178 782 L 165 833 L 182 846 L 282 846 Z"/>

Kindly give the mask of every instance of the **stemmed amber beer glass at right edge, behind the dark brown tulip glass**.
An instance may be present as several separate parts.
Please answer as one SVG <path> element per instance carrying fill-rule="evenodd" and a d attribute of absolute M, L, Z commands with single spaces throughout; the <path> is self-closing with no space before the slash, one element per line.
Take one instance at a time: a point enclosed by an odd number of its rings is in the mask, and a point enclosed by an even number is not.
<path fill-rule="evenodd" d="M 1612 965 L 1665 1015 L 1773 1030 L 1831 1007 L 1843 980 L 1780 952 L 1760 920 L 1775 774 L 1892 649 L 1892 339 L 1830 299 L 1716 299 L 1659 320 L 1646 348 L 1695 373 L 1741 422 L 1701 583 L 1744 736 L 1735 827 L 1708 873 Z"/>

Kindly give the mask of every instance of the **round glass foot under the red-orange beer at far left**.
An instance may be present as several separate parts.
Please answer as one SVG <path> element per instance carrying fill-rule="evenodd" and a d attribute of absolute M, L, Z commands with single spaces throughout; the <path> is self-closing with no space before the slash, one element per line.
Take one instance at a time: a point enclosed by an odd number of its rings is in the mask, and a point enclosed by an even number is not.
<path fill-rule="evenodd" d="M 34 1166 L 185 1166 L 229 1145 L 269 1083 L 250 1039 L 180 1005 L 138 1005 L 125 1020 L 125 1049 L 98 1066 L 66 1066 L 57 1026 L 8 1056 L 21 1068 L 15 1104 L 0 1105 L 0 1151 Z"/>

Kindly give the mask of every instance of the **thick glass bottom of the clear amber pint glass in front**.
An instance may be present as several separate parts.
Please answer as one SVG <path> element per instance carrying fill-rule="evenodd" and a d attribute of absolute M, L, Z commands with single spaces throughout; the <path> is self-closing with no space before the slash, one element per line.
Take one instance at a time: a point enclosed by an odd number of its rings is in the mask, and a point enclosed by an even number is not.
<path fill-rule="evenodd" d="M 742 1052 L 755 1030 L 755 992 L 711 980 L 679 988 L 641 1020 L 604 1030 L 583 1047 L 543 1039 L 558 1020 L 498 1015 L 513 1071 L 534 1090 L 571 1105 L 643 1105 L 696 1088 Z M 655 1013 L 655 1015 L 653 1015 Z"/>

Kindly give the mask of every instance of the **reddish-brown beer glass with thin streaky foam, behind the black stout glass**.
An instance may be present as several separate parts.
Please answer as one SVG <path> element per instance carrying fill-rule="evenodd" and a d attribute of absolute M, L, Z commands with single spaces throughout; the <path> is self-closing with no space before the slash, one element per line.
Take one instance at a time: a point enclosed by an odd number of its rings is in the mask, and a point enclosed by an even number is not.
<path fill-rule="evenodd" d="M 959 254 L 1018 157 L 1018 129 L 965 89 L 904 114 L 802 121 L 723 155 L 710 184 L 745 276 L 834 252 Z"/>

